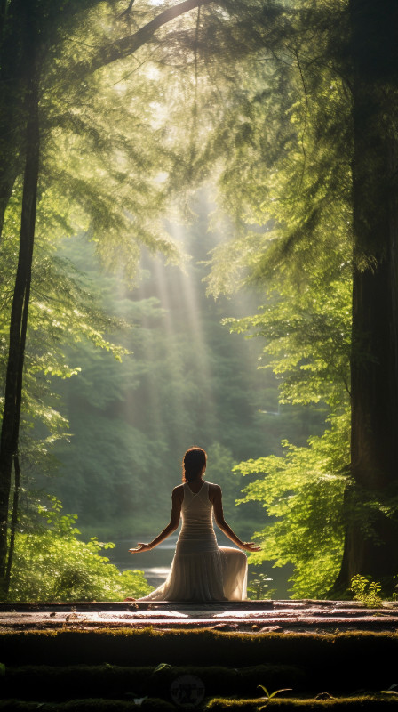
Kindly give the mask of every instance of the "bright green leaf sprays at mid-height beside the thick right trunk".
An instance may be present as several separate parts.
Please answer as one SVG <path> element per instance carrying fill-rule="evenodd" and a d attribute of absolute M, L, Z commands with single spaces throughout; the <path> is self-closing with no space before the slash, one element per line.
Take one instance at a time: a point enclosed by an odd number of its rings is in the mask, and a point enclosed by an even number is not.
<path fill-rule="evenodd" d="M 302 289 L 268 280 L 268 300 L 257 315 L 224 323 L 265 341 L 260 368 L 281 379 L 282 403 L 323 402 L 336 412 L 348 400 L 351 282 L 341 275 L 325 284 L 324 277 L 323 268 L 313 267 Z"/>

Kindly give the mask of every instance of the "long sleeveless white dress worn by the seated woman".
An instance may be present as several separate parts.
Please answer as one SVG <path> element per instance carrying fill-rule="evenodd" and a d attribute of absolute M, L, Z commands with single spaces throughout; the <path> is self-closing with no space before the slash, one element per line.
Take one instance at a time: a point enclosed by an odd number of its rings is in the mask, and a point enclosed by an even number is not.
<path fill-rule="evenodd" d="M 241 549 L 219 546 L 213 529 L 209 483 L 196 494 L 183 485 L 182 527 L 171 570 L 162 586 L 139 601 L 242 601 L 247 558 Z"/>

